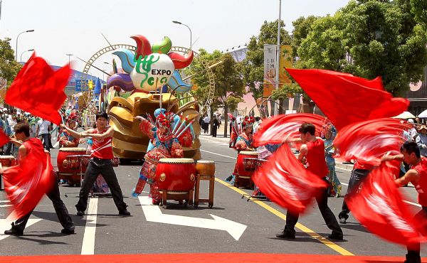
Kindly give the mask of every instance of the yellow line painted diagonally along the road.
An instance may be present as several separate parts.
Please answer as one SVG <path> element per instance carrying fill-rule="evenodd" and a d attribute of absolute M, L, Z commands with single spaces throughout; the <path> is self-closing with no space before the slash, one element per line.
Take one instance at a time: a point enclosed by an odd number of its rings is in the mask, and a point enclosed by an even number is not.
<path fill-rule="evenodd" d="M 215 178 L 215 181 L 223 184 L 224 186 L 227 186 L 231 190 L 234 190 L 237 193 L 240 193 L 241 195 L 248 195 L 248 193 L 244 192 L 243 190 L 240 190 L 239 188 L 231 186 L 231 184 L 226 183 L 226 182 L 222 181 L 221 179 Z M 279 218 L 286 220 L 285 214 L 281 213 L 279 210 L 277 210 L 275 208 L 272 208 L 270 205 L 267 205 L 263 201 L 253 200 L 253 202 L 260 205 L 260 207 L 264 208 L 265 210 L 268 210 L 270 213 L 277 215 Z M 310 228 L 306 227 L 305 225 L 301 225 L 299 222 L 297 222 L 297 225 L 295 225 L 295 227 L 297 227 L 297 229 L 301 230 L 302 232 L 305 232 L 306 234 L 310 235 L 314 239 L 322 242 L 324 245 L 327 245 L 327 247 L 334 249 L 339 254 L 342 254 L 344 256 L 354 256 L 354 254 L 352 252 L 349 252 L 347 249 L 344 249 L 343 247 L 340 247 L 339 245 L 335 244 L 334 242 L 327 240 L 325 237 L 322 237 L 321 235 L 317 234 L 316 232 L 314 232 Z"/>

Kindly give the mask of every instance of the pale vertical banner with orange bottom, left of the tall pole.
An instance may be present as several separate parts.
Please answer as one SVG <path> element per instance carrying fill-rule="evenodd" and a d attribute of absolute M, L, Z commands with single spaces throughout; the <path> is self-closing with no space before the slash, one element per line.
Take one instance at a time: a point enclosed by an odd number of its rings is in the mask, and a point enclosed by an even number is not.
<path fill-rule="evenodd" d="M 275 90 L 275 74 L 277 63 L 277 45 L 264 45 L 264 81 L 263 97 L 269 97 Z"/>

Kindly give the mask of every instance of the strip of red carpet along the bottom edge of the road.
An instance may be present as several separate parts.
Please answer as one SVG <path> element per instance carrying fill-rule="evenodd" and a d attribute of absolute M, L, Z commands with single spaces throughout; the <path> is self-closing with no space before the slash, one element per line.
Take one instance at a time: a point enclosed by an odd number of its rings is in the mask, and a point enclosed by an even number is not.
<path fill-rule="evenodd" d="M 139 263 L 139 262 L 346 262 L 346 263 L 394 263 L 404 262 L 402 257 L 365 257 L 320 254 L 96 254 L 96 255 L 55 255 L 55 256 L 0 256 L 1 263 Z"/>

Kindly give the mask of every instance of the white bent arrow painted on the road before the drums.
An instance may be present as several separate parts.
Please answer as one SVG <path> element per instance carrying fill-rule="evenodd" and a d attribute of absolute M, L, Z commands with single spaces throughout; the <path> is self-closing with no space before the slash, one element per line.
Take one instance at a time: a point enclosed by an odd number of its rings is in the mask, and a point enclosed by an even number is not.
<path fill-rule="evenodd" d="M 201 227 L 214 230 L 223 230 L 227 231 L 228 234 L 230 234 L 235 240 L 239 240 L 247 227 L 241 223 L 211 214 L 211 217 L 214 219 L 191 218 L 182 215 L 163 214 L 158 205 L 152 205 L 151 198 L 148 196 L 139 196 L 139 203 L 142 205 L 145 219 L 149 222 L 160 222 L 170 225 L 184 225 L 186 227 Z"/>

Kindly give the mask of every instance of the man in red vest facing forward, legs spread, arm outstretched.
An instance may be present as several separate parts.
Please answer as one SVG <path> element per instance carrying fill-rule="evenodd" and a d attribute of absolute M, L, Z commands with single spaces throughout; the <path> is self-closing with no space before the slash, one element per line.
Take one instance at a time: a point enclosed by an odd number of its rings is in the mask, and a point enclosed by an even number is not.
<path fill-rule="evenodd" d="M 80 199 L 77 205 L 75 205 L 77 215 L 79 216 L 85 215 L 85 210 L 88 206 L 89 191 L 99 174 L 104 177 L 105 182 L 111 190 L 112 199 L 119 210 L 119 215 L 130 215 L 127 205 L 123 201 L 122 189 L 112 168 L 111 160 L 114 159 L 114 156 L 112 155 L 111 142 L 114 129 L 107 126 L 107 123 L 108 115 L 105 112 L 100 112 L 96 114 L 95 129 L 88 129 L 85 132 L 78 133 L 61 124 L 61 127 L 70 132 L 72 136 L 93 138 L 92 154 L 90 154 L 91 158 L 86 169 L 82 187 L 80 188 Z"/>

